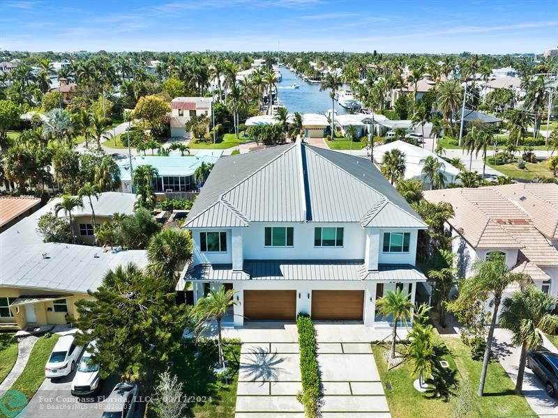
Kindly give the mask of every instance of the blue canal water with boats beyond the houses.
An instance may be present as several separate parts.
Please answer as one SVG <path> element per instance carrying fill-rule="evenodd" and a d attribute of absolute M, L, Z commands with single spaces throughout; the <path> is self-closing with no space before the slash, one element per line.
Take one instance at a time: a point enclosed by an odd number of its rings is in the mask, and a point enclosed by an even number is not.
<path fill-rule="evenodd" d="M 282 80 L 278 87 L 299 84 L 300 88 L 279 88 L 279 102 L 287 107 L 289 113 L 300 111 L 301 113 L 326 114 L 331 109 L 331 98 L 329 91 L 319 91 L 319 84 L 310 84 L 296 75 L 288 68 L 280 68 Z M 350 111 L 340 107 L 335 101 L 335 111 L 338 115 L 349 114 Z"/>

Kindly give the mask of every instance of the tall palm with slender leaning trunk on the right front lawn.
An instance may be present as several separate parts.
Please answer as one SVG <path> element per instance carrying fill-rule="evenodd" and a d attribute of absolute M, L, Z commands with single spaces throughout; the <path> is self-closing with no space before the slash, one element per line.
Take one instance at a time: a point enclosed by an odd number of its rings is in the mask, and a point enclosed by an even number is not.
<path fill-rule="evenodd" d="M 485 261 L 476 261 L 473 268 L 476 274 L 463 282 L 457 302 L 458 304 L 469 304 L 474 300 L 484 300 L 488 295 L 492 295 L 494 311 L 484 350 L 481 382 L 478 385 L 478 396 L 483 396 L 488 360 L 490 359 L 490 350 L 492 348 L 492 336 L 494 336 L 502 294 L 511 284 L 526 284 L 530 279 L 525 274 L 511 272 L 506 265 L 505 256 L 496 251 L 488 254 Z"/>

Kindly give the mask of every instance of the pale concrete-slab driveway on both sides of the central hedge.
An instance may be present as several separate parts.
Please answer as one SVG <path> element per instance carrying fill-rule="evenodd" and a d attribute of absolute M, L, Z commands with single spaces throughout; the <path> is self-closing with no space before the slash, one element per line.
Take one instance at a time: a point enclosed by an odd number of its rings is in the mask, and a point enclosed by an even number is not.
<path fill-rule="evenodd" d="M 317 360 L 322 378 L 323 418 L 389 418 L 370 341 L 390 330 L 354 324 L 319 324 Z M 223 330 L 242 341 L 236 418 L 303 418 L 296 325 Z"/>

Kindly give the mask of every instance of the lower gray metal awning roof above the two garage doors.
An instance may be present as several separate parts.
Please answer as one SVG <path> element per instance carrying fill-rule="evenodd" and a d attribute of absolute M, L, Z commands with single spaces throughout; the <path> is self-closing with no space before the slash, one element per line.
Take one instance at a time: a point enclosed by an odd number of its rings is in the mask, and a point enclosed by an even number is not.
<path fill-rule="evenodd" d="M 317 281 L 425 281 L 414 265 L 379 265 L 366 270 L 363 260 L 245 260 L 242 271 L 231 264 L 190 265 L 186 281 L 317 280 Z"/>

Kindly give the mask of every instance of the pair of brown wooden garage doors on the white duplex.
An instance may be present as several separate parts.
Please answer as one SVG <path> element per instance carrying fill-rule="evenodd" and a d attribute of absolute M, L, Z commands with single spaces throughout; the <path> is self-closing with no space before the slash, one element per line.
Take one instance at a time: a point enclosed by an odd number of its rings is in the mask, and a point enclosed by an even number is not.
<path fill-rule="evenodd" d="M 296 291 L 244 291 L 246 320 L 294 320 Z M 306 297 L 306 295 L 303 295 Z M 312 291 L 314 320 L 363 320 L 364 291 Z"/>

